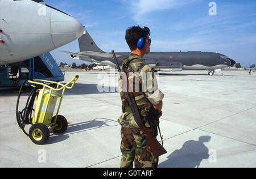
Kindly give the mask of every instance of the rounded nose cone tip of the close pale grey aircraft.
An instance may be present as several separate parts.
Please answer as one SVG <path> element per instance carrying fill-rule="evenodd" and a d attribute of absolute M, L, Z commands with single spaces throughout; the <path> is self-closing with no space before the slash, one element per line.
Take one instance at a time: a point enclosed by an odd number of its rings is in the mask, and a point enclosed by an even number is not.
<path fill-rule="evenodd" d="M 52 42 L 56 48 L 79 39 L 84 33 L 84 27 L 80 22 L 55 9 L 51 9 L 50 22 Z"/>

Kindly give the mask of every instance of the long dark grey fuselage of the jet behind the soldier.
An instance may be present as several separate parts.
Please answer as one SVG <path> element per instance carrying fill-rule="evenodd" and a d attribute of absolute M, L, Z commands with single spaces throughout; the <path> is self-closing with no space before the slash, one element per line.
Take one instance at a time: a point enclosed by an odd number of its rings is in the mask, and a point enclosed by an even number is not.
<path fill-rule="evenodd" d="M 121 64 L 123 58 L 129 53 L 116 53 Z M 212 52 L 151 52 L 146 54 L 144 60 L 154 69 L 174 69 L 174 62 L 181 63 L 183 70 L 216 70 L 232 66 L 236 62 L 220 53 Z M 92 62 L 105 63 L 115 66 L 112 58 L 92 56 Z"/>

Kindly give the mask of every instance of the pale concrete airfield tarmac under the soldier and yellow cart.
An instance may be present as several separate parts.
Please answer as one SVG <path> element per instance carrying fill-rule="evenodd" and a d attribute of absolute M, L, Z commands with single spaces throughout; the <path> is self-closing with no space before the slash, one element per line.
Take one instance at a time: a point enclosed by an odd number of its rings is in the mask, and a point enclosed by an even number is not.
<path fill-rule="evenodd" d="M 0 90 L 0 167 L 119 167 L 117 74 L 104 84 L 112 91 L 104 92 L 98 86 L 109 71 L 100 76 L 98 71 L 69 71 L 65 82 L 75 75 L 80 79 L 67 90 L 60 109 L 71 123 L 64 134 L 51 134 L 44 146 L 36 146 L 16 125 L 18 91 Z M 256 73 L 159 75 L 165 94 L 160 127 L 168 151 L 159 167 L 256 167 Z M 23 93 L 20 106 L 27 96 Z"/>

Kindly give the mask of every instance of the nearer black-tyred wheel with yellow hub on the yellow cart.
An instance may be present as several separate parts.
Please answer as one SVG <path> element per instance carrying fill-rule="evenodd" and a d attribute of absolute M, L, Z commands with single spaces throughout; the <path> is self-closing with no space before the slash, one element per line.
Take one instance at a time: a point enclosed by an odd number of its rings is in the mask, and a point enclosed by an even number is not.
<path fill-rule="evenodd" d="M 43 123 L 36 123 L 30 127 L 29 135 L 32 142 L 43 145 L 49 139 L 49 129 Z"/>

